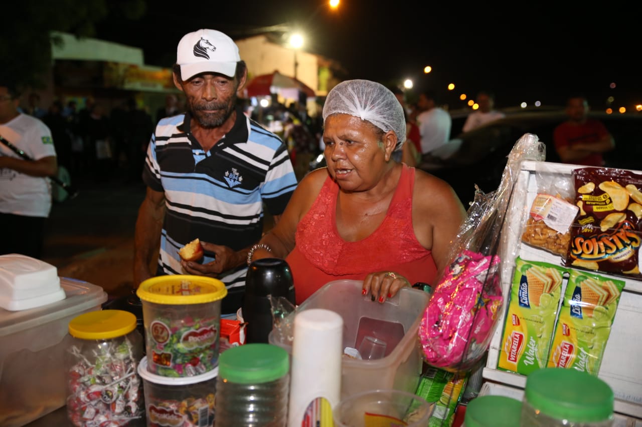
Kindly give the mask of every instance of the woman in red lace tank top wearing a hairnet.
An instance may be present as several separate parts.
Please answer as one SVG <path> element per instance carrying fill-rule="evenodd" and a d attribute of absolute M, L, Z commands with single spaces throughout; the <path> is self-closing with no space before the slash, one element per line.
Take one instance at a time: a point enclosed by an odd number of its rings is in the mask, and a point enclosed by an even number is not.
<path fill-rule="evenodd" d="M 374 81 L 343 81 L 323 119 L 327 167 L 299 183 L 248 264 L 285 258 L 297 304 L 333 280 L 363 280 L 380 303 L 412 283 L 435 285 L 466 212 L 446 182 L 393 160 L 406 138 L 397 98 Z"/>

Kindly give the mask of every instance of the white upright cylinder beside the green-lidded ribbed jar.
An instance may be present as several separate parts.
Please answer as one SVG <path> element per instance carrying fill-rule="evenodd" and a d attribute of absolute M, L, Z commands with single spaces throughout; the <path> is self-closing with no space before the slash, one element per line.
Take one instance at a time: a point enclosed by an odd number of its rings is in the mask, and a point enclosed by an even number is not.
<path fill-rule="evenodd" d="M 300 427 L 310 403 L 338 405 L 341 393 L 343 319 L 324 308 L 303 310 L 294 318 L 288 426 Z M 331 412 L 320 414 L 329 416 Z"/>

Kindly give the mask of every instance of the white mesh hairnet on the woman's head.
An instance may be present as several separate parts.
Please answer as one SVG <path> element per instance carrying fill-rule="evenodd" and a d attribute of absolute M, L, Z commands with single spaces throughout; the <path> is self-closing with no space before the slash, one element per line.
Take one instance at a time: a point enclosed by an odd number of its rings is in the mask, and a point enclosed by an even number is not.
<path fill-rule="evenodd" d="M 401 149 L 406 140 L 406 118 L 403 106 L 390 89 L 370 80 L 346 80 L 336 85 L 327 94 L 323 106 L 323 120 L 334 113 L 360 117 L 387 132 L 397 135 L 397 147 Z"/>

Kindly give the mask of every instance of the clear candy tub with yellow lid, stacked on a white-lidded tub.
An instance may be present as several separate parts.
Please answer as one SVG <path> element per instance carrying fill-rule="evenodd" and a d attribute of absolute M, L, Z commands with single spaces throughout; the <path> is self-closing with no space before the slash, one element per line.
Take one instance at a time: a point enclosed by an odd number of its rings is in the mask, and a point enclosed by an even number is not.
<path fill-rule="evenodd" d="M 204 276 L 159 276 L 136 291 L 143 302 L 148 371 L 197 376 L 218 364 L 222 281 Z"/>

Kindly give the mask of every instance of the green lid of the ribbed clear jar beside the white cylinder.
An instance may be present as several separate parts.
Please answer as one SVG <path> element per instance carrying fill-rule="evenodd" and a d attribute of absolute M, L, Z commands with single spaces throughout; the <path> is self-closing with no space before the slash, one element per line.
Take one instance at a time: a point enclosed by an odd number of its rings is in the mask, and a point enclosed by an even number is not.
<path fill-rule="evenodd" d="M 290 371 L 288 352 L 273 344 L 252 343 L 229 348 L 218 358 L 218 377 L 239 384 L 277 380 Z"/>

